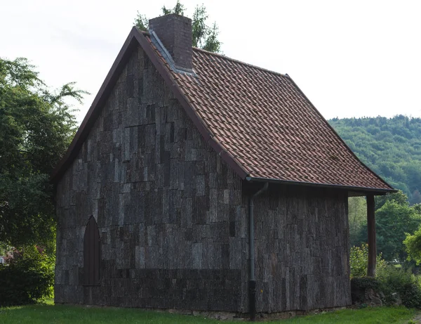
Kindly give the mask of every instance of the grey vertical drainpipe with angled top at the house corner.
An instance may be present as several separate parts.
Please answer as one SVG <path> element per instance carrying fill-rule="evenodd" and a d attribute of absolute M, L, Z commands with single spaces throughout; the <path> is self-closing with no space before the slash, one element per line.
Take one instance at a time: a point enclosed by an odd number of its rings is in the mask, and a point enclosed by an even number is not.
<path fill-rule="evenodd" d="M 255 280 L 255 262 L 254 262 L 254 198 L 267 190 L 269 182 L 258 190 L 257 193 L 248 198 L 248 247 L 250 248 L 249 268 L 250 276 L 248 280 L 248 311 L 250 312 L 250 320 L 256 318 L 256 280 Z"/>

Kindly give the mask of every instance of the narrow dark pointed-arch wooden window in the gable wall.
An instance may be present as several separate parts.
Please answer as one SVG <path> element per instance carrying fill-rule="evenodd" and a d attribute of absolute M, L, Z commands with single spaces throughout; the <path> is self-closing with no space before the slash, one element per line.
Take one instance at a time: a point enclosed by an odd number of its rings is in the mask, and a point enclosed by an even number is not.
<path fill-rule="evenodd" d="M 83 285 L 100 284 L 100 231 L 91 216 L 83 238 Z"/>

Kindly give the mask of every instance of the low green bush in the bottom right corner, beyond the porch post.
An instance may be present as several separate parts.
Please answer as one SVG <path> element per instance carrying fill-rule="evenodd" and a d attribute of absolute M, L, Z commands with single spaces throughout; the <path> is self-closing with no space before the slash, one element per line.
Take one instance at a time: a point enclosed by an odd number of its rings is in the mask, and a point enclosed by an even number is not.
<path fill-rule="evenodd" d="M 410 270 L 386 266 L 377 272 L 377 280 L 386 302 L 393 302 L 392 294 L 397 292 L 404 306 L 421 308 L 421 279 Z"/>

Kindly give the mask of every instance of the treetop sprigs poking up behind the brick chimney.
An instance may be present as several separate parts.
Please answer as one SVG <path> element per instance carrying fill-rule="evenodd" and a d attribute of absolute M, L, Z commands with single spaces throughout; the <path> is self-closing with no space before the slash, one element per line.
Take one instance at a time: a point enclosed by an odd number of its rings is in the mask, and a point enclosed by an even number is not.
<path fill-rule="evenodd" d="M 166 8 L 163 6 L 161 11 L 163 15 L 169 15 L 175 13 L 177 15 L 185 15 L 185 6 L 177 0 L 174 8 Z M 208 13 L 206 13 L 206 7 L 196 6 L 192 17 L 192 46 L 202 48 L 206 51 L 219 53 L 221 49 L 221 43 L 218 41 L 218 25 L 213 22 L 212 27 L 206 25 L 208 20 Z M 147 31 L 148 20 L 145 15 L 142 15 L 138 11 L 138 15 L 135 18 L 135 26 L 140 30 Z"/>

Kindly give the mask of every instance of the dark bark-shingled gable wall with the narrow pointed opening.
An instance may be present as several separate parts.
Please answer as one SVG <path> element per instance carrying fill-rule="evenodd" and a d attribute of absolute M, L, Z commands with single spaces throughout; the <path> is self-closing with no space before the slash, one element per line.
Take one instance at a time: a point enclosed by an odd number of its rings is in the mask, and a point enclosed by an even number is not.
<path fill-rule="evenodd" d="M 241 179 L 203 141 L 140 48 L 56 200 L 55 302 L 246 311 Z M 101 283 L 84 287 L 91 215 Z"/>

